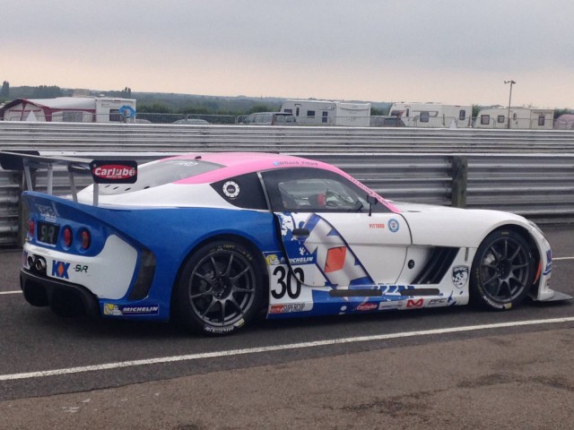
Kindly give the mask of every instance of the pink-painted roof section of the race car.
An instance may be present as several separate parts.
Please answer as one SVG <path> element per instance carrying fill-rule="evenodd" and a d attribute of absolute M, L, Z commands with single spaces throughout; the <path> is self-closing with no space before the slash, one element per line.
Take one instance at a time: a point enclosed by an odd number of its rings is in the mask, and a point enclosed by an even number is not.
<path fill-rule="evenodd" d="M 338 168 L 322 161 L 268 152 L 191 153 L 170 157 L 169 159 L 162 159 L 160 162 L 174 159 L 202 160 L 222 166 L 209 172 L 178 180 L 175 184 L 209 184 L 233 176 L 277 168 L 322 168 L 342 173 Z"/>

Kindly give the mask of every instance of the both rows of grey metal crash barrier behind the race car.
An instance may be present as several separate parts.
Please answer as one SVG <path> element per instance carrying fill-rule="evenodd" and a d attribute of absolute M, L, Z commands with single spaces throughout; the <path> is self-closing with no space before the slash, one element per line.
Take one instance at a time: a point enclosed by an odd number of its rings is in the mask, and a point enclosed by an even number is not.
<path fill-rule="evenodd" d="M 572 131 L 0 122 L 0 149 L 86 158 L 119 153 L 139 162 L 192 151 L 283 152 L 332 163 L 391 200 L 574 222 Z M 40 190 L 45 183 L 39 171 Z M 22 186 L 21 174 L 0 168 L 0 246 L 18 244 Z M 56 169 L 55 193 L 68 193 L 67 186 L 67 174 Z"/>

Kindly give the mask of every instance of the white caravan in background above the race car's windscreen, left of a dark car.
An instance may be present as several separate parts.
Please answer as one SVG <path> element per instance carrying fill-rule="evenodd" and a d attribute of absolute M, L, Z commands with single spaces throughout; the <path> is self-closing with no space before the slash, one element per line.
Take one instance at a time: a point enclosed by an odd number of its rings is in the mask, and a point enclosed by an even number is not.
<path fill-rule="evenodd" d="M 280 110 L 295 116 L 297 125 L 368 127 L 370 123 L 370 103 L 289 99 Z"/>

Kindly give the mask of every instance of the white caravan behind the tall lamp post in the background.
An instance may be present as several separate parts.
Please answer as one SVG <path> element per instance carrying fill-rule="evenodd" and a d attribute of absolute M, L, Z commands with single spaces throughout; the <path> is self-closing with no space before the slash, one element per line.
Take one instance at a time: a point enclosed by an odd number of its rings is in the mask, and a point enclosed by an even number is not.
<path fill-rule="evenodd" d="M 553 109 L 486 107 L 481 109 L 478 116 L 476 116 L 474 128 L 552 130 L 553 122 Z"/>

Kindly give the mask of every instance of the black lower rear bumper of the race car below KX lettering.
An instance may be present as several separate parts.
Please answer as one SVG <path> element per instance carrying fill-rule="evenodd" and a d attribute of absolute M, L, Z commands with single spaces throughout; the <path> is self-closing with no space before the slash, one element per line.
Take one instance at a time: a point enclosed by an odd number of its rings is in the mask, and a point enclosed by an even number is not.
<path fill-rule="evenodd" d="M 22 269 L 20 287 L 30 305 L 50 306 L 57 314 L 64 316 L 100 315 L 98 298 L 81 285 L 54 280 Z"/>

